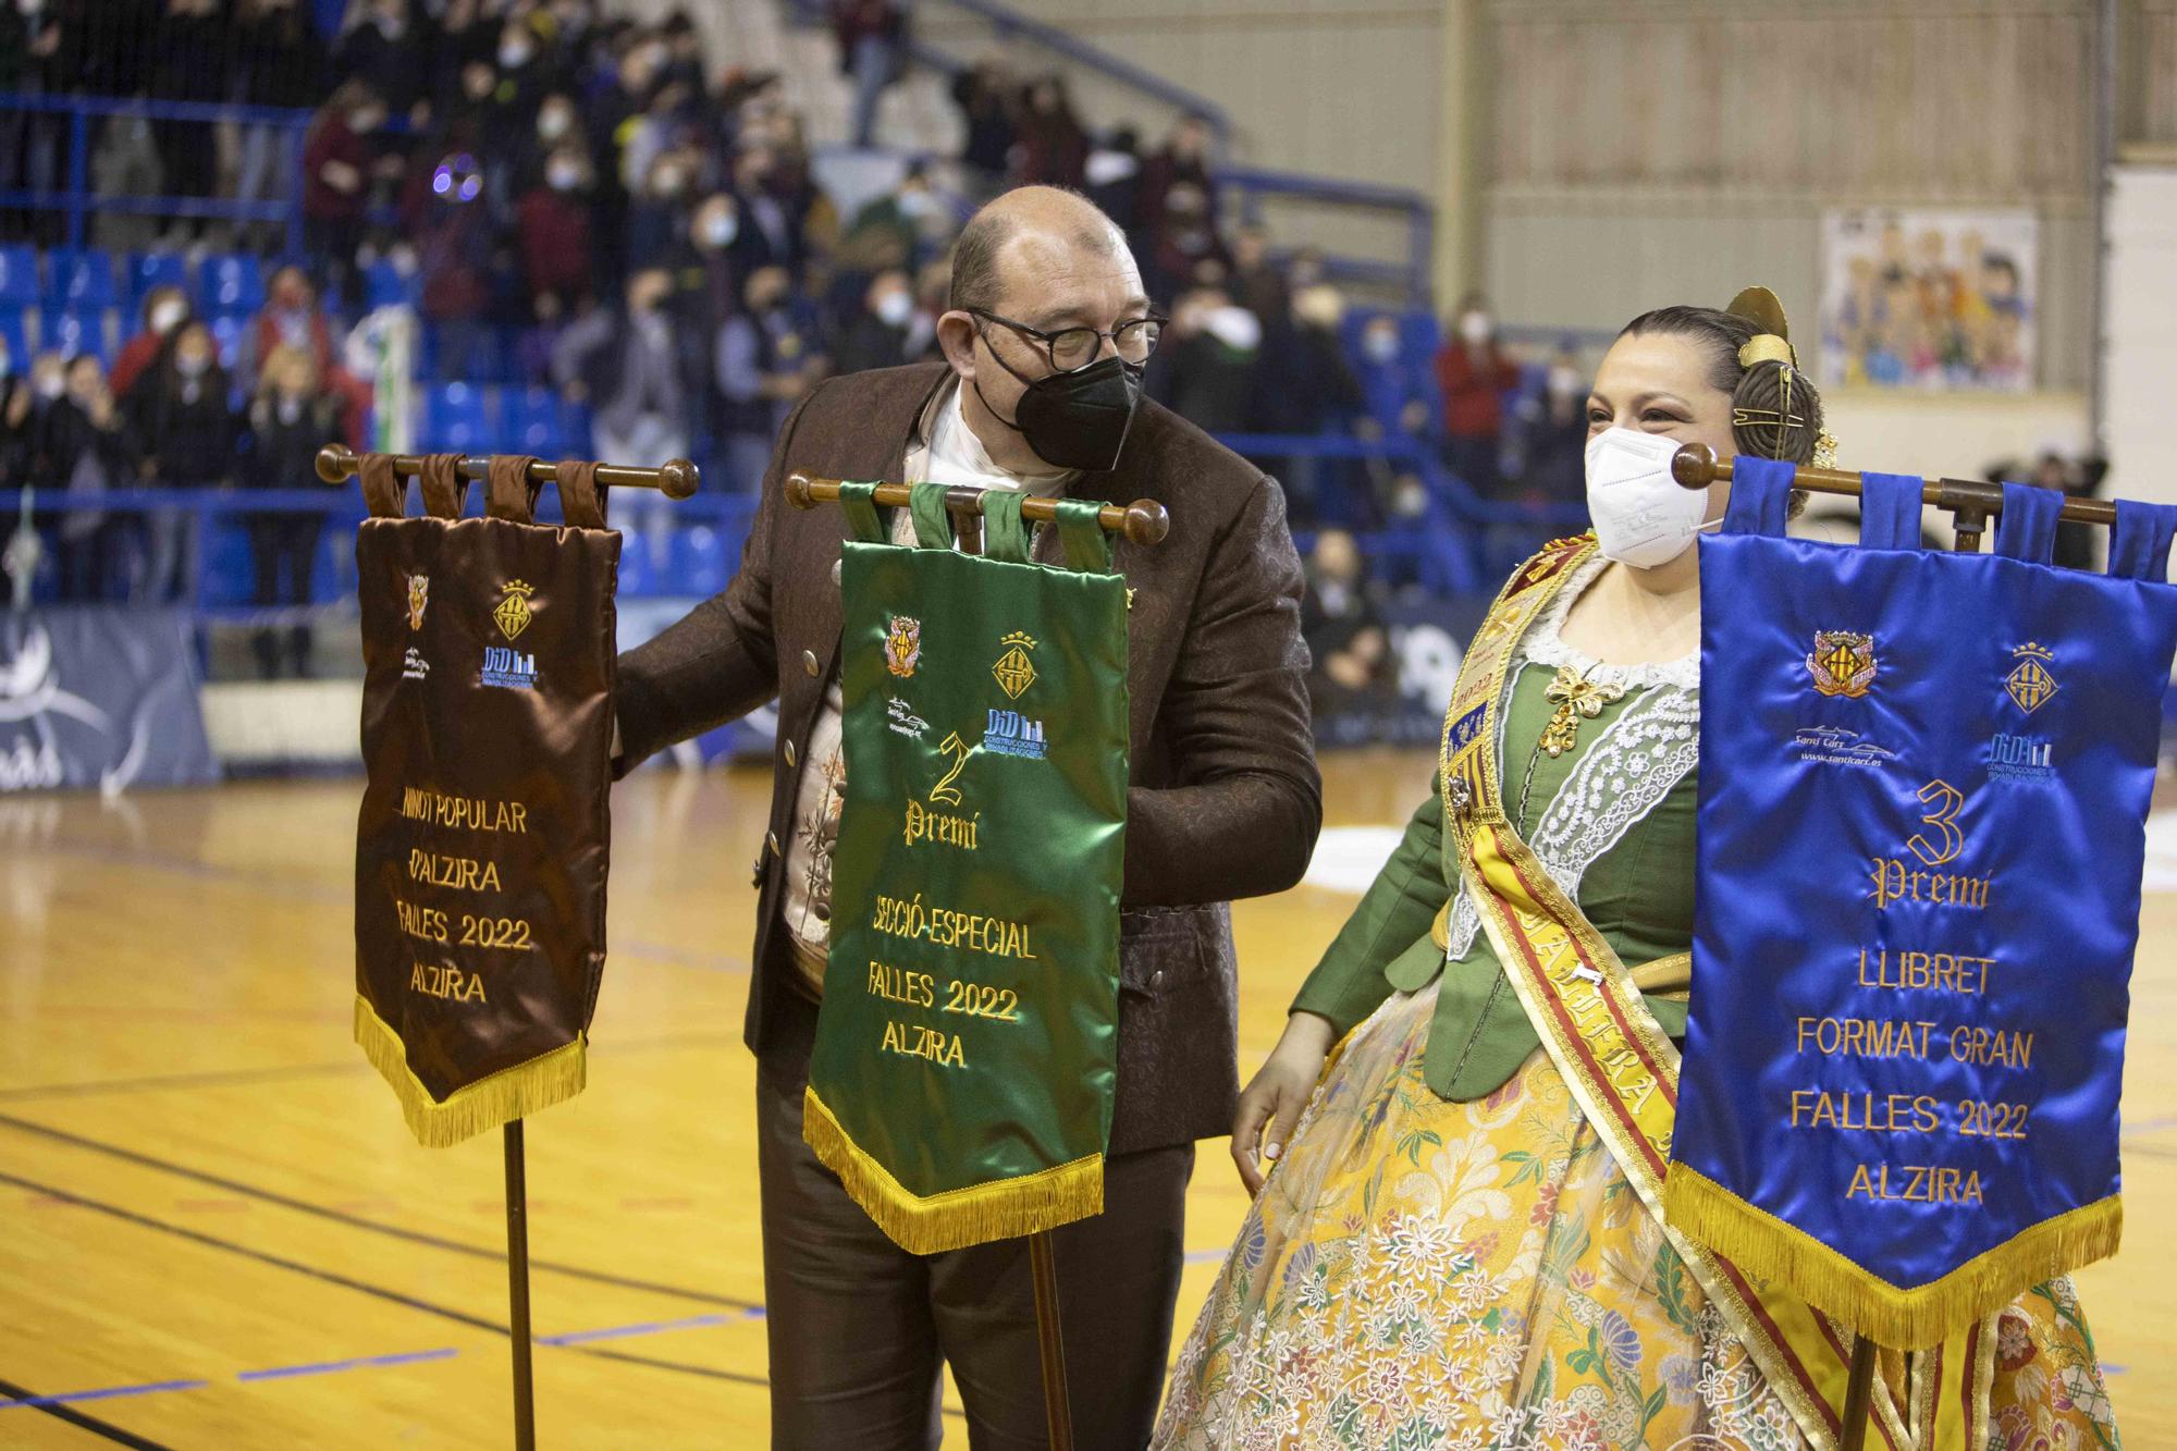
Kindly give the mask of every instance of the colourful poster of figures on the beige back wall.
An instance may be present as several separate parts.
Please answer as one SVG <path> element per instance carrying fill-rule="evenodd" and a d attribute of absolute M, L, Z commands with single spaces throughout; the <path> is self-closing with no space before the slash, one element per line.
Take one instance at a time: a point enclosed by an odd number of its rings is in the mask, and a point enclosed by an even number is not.
<path fill-rule="evenodd" d="M 2031 211 L 1822 214 L 1822 381 L 2033 388 Z"/>

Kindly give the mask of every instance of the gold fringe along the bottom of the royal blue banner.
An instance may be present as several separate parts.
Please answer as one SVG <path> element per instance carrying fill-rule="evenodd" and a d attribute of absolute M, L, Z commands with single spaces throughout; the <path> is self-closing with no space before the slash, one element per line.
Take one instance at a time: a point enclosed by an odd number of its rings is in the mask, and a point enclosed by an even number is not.
<path fill-rule="evenodd" d="M 1748 1275 L 1776 1281 L 1898 1351 L 1938 1344 L 2033 1285 L 2114 1255 L 2125 1233 L 2125 1207 L 2112 1194 L 2022 1229 L 1942 1279 L 1905 1288 L 1683 1163 L 1672 1163 L 1663 1183 L 1663 1218 Z"/>

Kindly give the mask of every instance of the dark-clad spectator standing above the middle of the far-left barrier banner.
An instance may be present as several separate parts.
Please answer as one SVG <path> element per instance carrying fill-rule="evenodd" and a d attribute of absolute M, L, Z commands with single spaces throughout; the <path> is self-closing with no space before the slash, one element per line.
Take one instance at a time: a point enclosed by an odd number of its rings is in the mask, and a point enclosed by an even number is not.
<path fill-rule="evenodd" d="M 50 394 L 37 427 L 37 458 L 50 471 L 48 477 L 70 503 L 111 488 L 133 488 L 144 449 L 128 414 L 115 403 L 98 359 L 78 353 L 61 364 L 54 381 L 59 392 L 52 390 L 52 381 L 39 388 L 39 397 Z M 67 603 L 111 599 L 120 584 L 128 534 L 120 519 L 109 519 L 100 510 L 67 510 L 54 527 L 59 599 Z"/>

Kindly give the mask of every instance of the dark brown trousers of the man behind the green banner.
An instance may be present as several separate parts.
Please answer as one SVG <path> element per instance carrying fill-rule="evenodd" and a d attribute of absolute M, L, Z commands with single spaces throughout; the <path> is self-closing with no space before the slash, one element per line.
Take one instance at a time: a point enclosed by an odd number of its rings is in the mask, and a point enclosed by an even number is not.
<path fill-rule="evenodd" d="M 771 1068 L 755 1081 L 771 1444 L 934 1451 L 945 1362 L 969 1447 L 1047 1447 L 1028 1242 L 901 1251 L 801 1142 L 801 1087 Z M 1149 1442 L 1193 1168 L 1193 1144 L 1115 1155 L 1104 1214 L 1051 1233 L 1080 1451 Z"/>

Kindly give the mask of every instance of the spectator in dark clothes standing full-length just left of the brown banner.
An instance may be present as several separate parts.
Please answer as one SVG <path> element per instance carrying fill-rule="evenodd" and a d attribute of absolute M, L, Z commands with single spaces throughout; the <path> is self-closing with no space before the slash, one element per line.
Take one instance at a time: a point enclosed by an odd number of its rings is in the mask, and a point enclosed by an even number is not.
<path fill-rule="evenodd" d="M 276 346 L 266 355 L 266 366 L 250 401 L 250 436 L 255 447 L 248 455 L 244 484 L 250 488 L 309 488 L 318 481 L 318 449 L 340 423 L 340 399 L 320 388 L 318 364 L 305 349 Z M 248 516 L 250 553 L 257 560 L 257 606 L 307 606 L 311 569 L 318 560 L 318 536 L 324 532 L 324 514 L 281 514 L 261 512 Z M 311 627 L 294 623 L 285 632 L 287 664 L 298 680 L 307 680 L 311 658 Z M 250 636 L 257 651 L 257 671 L 266 680 L 279 678 L 281 632 L 257 630 Z"/>

